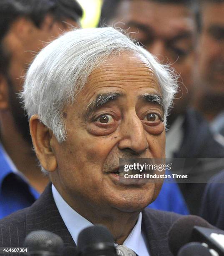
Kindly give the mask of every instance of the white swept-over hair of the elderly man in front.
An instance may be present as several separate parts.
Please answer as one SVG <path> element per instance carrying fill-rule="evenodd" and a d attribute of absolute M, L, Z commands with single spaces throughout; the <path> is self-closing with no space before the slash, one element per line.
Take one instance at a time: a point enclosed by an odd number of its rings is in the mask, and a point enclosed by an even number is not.
<path fill-rule="evenodd" d="M 110 27 L 70 31 L 40 51 L 28 70 L 20 95 L 28 117 L 37 114 L 59 143 L 65 141 L 63 108 L 74 102 L 93 69 L 124 51 L 141 54 L 148 61 L 161 87 L 166 120 L 177 90 L 174 73 L 126 35 Z"/>

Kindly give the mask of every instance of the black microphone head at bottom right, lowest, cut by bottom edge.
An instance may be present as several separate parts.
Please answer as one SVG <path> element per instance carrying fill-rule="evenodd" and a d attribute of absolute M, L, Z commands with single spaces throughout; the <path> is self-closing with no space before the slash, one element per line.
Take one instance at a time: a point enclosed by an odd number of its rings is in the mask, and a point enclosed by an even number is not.
<path fill-rule="evenodd" d="M 191 242 L 183 246 L 177 256 L 211 256 L 211 253 L 201 243 Z"/>

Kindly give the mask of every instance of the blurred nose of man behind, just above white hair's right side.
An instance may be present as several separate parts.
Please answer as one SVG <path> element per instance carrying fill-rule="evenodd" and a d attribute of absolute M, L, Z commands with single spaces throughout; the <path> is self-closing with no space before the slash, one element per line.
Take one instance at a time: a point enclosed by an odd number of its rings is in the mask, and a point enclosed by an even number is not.
<path fill-rule="evenodd" d="M 147 50 L 156 56 L 161 64 L 167 63 L 166 46 L 163 41 L 154 41 L 152 44 L 150 44 L 150 46 L 147 47 Z"/>

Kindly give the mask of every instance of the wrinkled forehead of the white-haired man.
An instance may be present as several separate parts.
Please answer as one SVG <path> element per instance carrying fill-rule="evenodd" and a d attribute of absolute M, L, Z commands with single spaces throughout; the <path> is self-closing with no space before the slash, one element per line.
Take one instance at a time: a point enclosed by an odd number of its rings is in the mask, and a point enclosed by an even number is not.
<path fill-rule="evenodd" d="M 128 95 L 129 92 L 143 91 L 159 94 L 161 90 L 158 79 L 144 57 L 124 53 L 94 69 L 81 95 L 90 100 L 101 93 Z"/>

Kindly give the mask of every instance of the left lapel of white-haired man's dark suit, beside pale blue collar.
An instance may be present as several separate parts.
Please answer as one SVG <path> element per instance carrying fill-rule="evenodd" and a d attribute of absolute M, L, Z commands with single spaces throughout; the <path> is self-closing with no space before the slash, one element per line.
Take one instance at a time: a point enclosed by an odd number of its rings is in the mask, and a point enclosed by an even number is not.
<path fill-rule="evenodd" d="M 60 236 L 65 246 L 76 246 L 55 205 L 51 184 L 27 212 L 26 235 L 33 230 L 48 230 Z"/>

